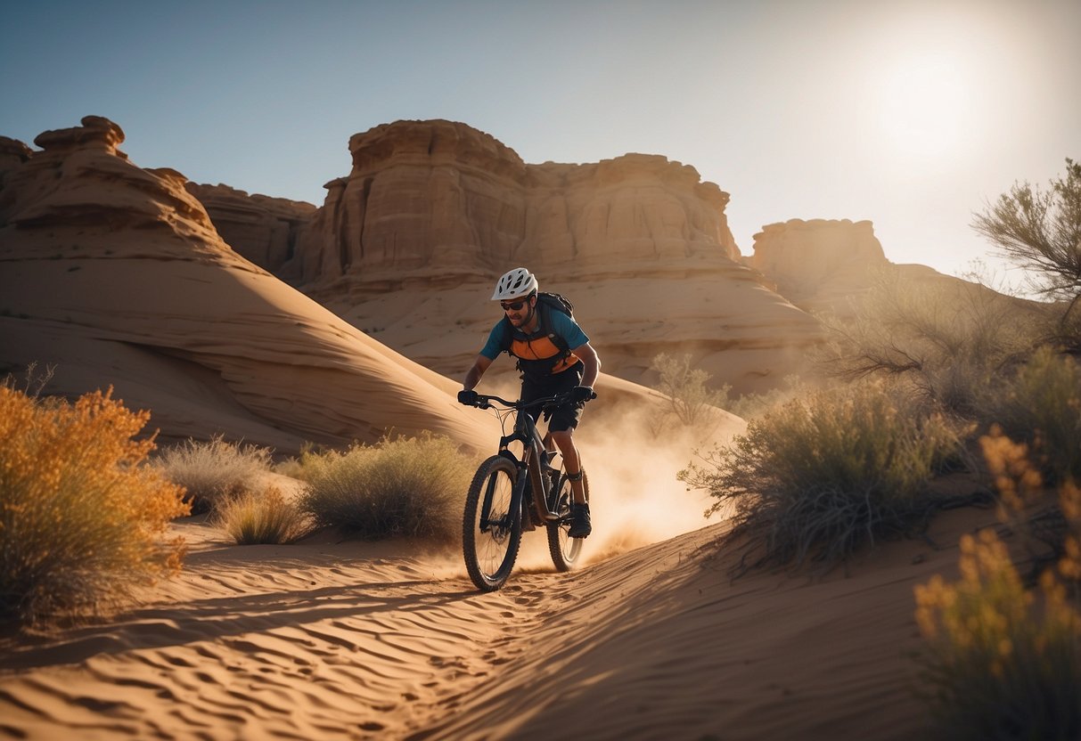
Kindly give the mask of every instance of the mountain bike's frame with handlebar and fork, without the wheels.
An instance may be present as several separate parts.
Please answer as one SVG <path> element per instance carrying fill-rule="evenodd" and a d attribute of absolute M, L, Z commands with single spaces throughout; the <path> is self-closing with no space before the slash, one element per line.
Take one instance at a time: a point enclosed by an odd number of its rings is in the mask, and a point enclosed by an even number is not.
<path fill-rule="evenodd" d="M 533 511 L 544 524 L 559 522 L 560 515 L 553 512 L 548 504 L 550 476 L 547 474 L 552 469 L 548 463 L 548 450 L 545 448 L 544 440 L 540 437 L 540 432 L 537 430 L 536 423 L 529 415 L 528 409 L 535 406 L 555 406 L 564 403 L 568 401 L 565 396 L 565 394 L 545 396 L 544 399 L 537 399 L 529 403 L 508 402 L 506 399 L 498 396 L 477 396 L 477 406 L 482 409 L 490 408 L 492 402 L 497 402 L 508 409 L 515 409 L 513 432 L 499 439 L 499 455 L 511 460 L 518 469 L 518 476 L 515 479 L 515 488 L 510 493 L 510 511 L 522 512 L 522 497 L 525 496 L 525 482 L 529 481 L 531 490 L 534 494 L 538 493 L 540 495 L 532 497 L 532 506 Z M 522 444 L 521 459 L 510 452 L 510 444 L 515 442 Z M 490 487 L 493 485 L 494 481 L 489 484 Z M 488 515 L 490 514 L 491 506 L 492 491 L 486 490 L 484 493 L 484 501 L 481 504 L 480 522 L 482 529 L 489 525 Z"/>

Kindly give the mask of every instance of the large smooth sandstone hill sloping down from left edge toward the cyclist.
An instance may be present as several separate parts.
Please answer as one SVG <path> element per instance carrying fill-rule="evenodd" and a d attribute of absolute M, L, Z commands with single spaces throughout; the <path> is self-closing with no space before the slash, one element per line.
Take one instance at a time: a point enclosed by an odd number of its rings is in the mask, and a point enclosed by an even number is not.
<path fill-rule="evenodd" d="M 143 170 L 99 117 L 31 151 L 0 143 L 0 374 L 114 386 L 173 439 L 296 452 L 432 430 L 486 447 L 445 378 L 379 345 L 225 244 L 172 170 Z"/>

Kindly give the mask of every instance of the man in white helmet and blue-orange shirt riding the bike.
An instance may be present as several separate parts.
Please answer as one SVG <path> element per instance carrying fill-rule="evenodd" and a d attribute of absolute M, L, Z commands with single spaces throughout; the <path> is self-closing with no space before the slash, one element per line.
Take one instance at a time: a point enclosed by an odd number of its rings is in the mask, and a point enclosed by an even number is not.
<path fill-rule="evenodd" d="M 473 387 L 505 350 L 518 359 L 522 401 L 572 393 L 573 401 L 550 410 L 548 434 L 563 454 L 566 477 L 571 481 L 573 502 L 568 535 L 585 538 L 592 531 L 592 525 L 582 481 L 582 459 L 574 445 L 574 429 L 582 417 L 582 407 L 595 398 L 592 387 L 601 361 L 589 345 L 589 338 L 569 313 L 538 302 L 537 288 L 536 275 L 525 268 L 515 268 L 496 282 L 492 300 L 499 301 L 506 321 L 501 319 L 489 334 L 488 342 L 462 381 L 458 401 L 463 404 L 476 402 Z M 539 409 L 530 414 L 535 421 Z"/>

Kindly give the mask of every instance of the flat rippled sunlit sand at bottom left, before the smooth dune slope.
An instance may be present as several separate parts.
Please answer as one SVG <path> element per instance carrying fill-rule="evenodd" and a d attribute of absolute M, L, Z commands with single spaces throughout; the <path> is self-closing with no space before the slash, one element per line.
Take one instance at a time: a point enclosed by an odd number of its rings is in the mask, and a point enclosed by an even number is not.
<path fill-rule="evenodd" d="M 61 728 L 78 738 L 402 736 L 491 671 L 521 609 L 517 590 L 478 595 L 448 579 L 440 556 L 400 545 L 227 547 L 204 526 L 179 529 L 195 552 L 158 601 L 4 652 L 0 728 L 16 738 Z"/>

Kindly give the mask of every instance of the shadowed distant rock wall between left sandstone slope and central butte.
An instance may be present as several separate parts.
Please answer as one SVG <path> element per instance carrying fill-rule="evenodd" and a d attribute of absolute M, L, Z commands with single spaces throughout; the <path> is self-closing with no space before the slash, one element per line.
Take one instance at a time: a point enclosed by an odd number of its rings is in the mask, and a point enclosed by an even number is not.
<path fill-rule="evenodd" d="M 292 259 L 302 227 L 316 213 L 316 206 L 304 201 L 249 196 L 221 184 L 189 181 L 184 187 L 202 203 L 226 244 L 270 272 Z"/>

